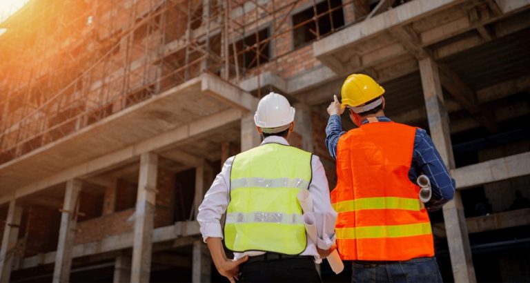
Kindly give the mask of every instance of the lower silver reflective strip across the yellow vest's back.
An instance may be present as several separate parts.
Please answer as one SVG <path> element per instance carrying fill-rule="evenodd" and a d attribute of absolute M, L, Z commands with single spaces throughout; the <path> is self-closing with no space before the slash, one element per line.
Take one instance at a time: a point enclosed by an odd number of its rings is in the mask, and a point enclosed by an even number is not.
<path fill-rule="evenodd" d="M 226 223 L 282 223 L 304 224 L 302 215 L 285 213 L 226 213 Z"/>

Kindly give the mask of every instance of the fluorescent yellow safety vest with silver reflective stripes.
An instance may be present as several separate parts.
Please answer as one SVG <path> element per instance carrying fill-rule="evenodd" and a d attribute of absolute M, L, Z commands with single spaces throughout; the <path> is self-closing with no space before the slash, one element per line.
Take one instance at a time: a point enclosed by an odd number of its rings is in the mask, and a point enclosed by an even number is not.
<path fill-rule="evenodd" d="M 224 226 L 231 251 L 297 255 L 306 248 L 300 190 L 311 182 L 311 153 L 264 144 L 236 155 Z"/>

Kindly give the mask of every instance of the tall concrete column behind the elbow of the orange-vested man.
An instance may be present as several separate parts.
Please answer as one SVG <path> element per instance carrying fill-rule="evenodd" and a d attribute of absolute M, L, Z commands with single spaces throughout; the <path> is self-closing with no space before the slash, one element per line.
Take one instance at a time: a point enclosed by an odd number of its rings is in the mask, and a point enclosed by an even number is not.
<path fill-rule="evenodd" d="M 449 132 L 449 116 L 444 108 L 444 97 L 442 95 L 440 76 L 438 75 L 438 66 L 430 57 L 420 60 L 419 64 L 425 107 L 433 143 L 440 152 L 446 166 L 449 169 L 455 168 Z M 454 280 L 455 282 L 476 282 L 466 219 L 459 191 L 456 191 L 455 198 L 444 206 L 443 212 Z"/>

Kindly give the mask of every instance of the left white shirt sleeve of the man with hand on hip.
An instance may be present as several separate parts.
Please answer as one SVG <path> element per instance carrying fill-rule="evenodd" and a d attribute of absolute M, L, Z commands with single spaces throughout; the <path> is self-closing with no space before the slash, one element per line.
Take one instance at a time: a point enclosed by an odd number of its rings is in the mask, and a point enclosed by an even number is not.
<path fill-rule="evenodd" d="M 204 200 L 199 206 L 197 221 L 201 226 L 201 234 L 204 242 L 208 237 L 223 238 L 221 228 L 221 217 L 230 202 L 230 168 L 234 157 L 230 157 L 224 162 L 221 172 L 217 174 L 215 180 L 204 195 Z"/>

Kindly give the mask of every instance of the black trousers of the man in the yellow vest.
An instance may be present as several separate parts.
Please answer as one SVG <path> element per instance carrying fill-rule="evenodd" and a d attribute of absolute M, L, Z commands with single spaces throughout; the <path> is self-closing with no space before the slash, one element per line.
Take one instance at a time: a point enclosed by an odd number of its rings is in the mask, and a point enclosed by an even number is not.
<path fill-rule="evenodd" d="M 239 282 L 315 282 L 320 275 L 313 257 L 291 257 L 261 260 L 250 257 L 239 266 Z"/>

